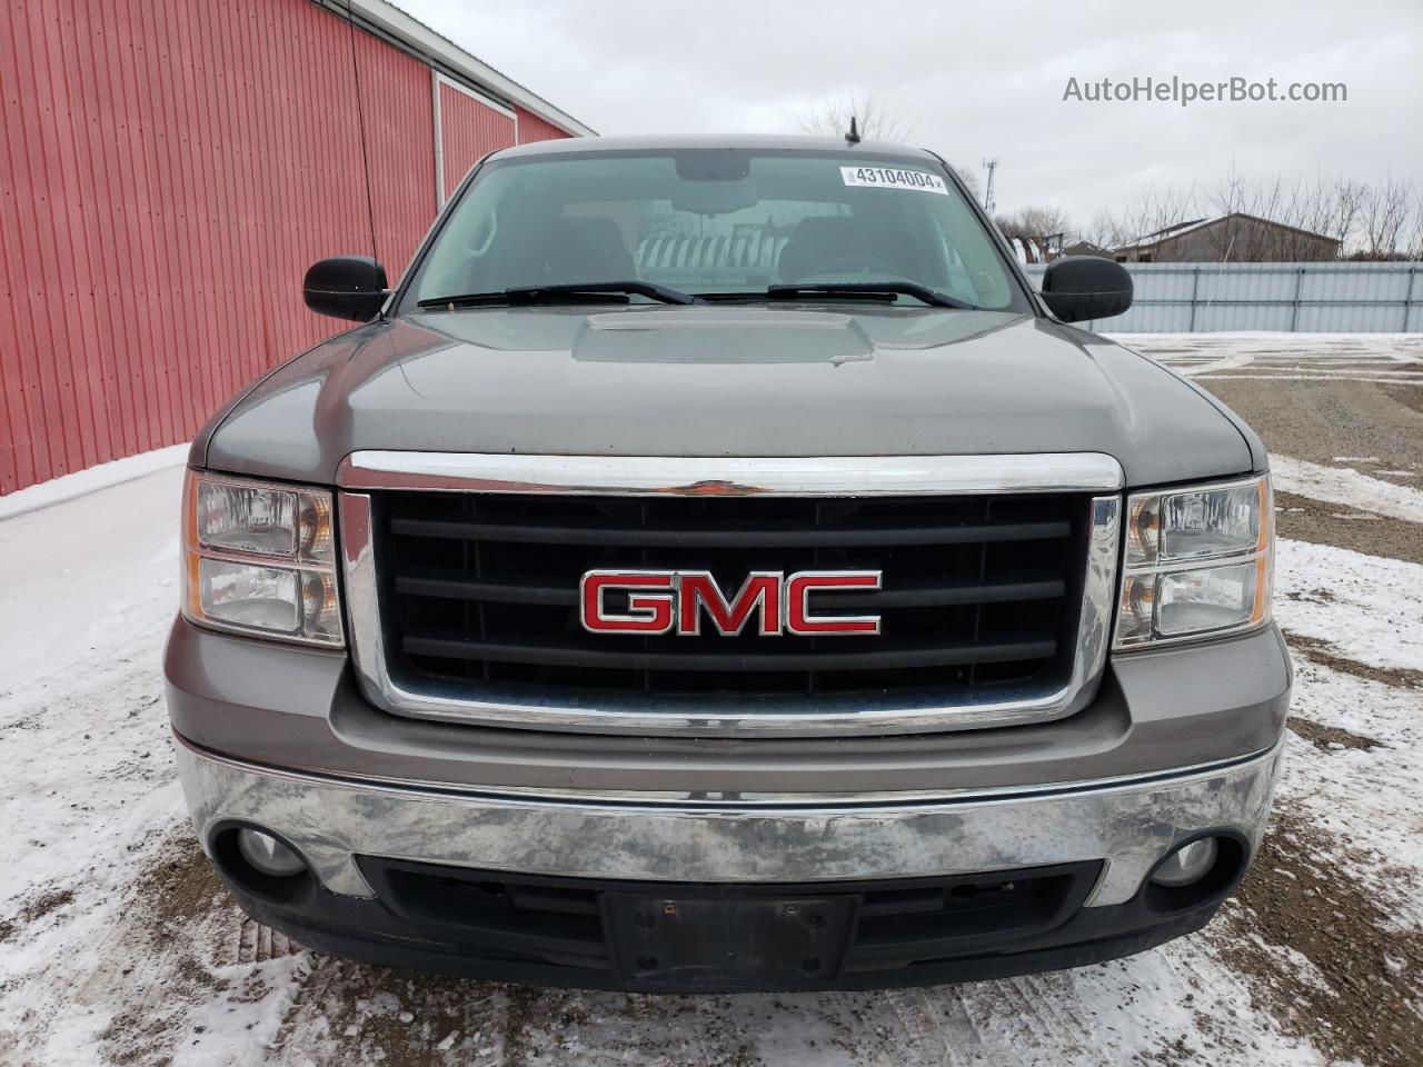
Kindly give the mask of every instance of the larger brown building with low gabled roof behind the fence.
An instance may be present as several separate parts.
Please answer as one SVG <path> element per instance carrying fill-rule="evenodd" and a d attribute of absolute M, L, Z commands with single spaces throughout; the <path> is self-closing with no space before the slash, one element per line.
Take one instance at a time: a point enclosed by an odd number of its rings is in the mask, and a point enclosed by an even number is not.
<path fill-rule="evenodd" d="M 1232 212 L 1146 233 L 1111 250 L 1118 263 L 1298 263 L 1339 258 L 1339 239 Z"/>

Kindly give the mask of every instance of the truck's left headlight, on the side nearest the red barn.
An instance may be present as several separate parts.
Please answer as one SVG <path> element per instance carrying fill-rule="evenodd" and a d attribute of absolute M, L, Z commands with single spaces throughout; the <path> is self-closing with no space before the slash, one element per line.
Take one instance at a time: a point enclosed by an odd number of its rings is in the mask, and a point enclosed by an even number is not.
<path fill-rule="evenodd" d="M 221 630 L 344 644 L 332 494 L 188 471 L 184 615 Z"/>

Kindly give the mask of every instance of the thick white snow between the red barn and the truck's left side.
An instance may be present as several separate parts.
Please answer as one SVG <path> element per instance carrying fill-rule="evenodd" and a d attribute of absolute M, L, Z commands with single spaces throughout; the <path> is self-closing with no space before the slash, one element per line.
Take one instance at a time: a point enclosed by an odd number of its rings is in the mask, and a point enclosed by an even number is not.
<path fill-rule="evenodd" d="M 159 650 L 181 484 L 164 469 L 0 522 L 0 1063 L 21 1030 L 34 1063 L 90 1056 L 124 990 L 120 967 L 88 1000 L 98 950 L 175 831 Z"/>

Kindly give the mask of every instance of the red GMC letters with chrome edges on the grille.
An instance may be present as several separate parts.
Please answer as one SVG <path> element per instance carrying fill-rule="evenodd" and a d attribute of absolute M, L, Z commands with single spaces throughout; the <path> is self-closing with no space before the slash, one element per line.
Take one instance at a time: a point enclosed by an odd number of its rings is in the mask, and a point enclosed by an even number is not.
<path fill-rule="evenodd" d="M 706 616 L 721 636 L 757 616 L 761 637 L 795 633 L 879 633 L 878 615 L 813 615 L 811 595 L 878 589 L 879 570 L 753 570 L 730 600 L 709 570 L 589 570 L 579 582 L 583 629 L 591 633 L 702 633 Z M 609 589 L 628 593 L 628 607 L 608 610 Z"/>

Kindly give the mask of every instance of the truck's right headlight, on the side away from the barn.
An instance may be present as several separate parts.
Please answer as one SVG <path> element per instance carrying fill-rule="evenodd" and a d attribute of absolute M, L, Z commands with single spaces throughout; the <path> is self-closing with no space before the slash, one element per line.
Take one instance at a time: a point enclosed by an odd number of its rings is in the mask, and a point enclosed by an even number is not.
<path fill-rule="evenodd" d="M 1274 576 L 1269 475 L 1127 498 L 1117 650 L 1261 626 Z"/>

